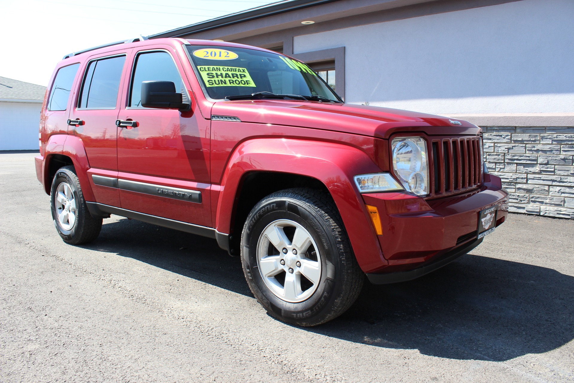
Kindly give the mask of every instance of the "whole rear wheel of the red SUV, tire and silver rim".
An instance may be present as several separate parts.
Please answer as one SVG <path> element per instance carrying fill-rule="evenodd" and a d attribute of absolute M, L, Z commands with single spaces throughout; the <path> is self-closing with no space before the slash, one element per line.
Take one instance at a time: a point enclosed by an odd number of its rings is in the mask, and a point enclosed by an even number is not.
<path fill-rule="evenodd" d="M 71 245 L 81 245 L 98 238 L 102 219 L 88 211 L 80 181 L 72 166 L 60 168 L 52 182 L 52 219 L 60 237 Z"/>

